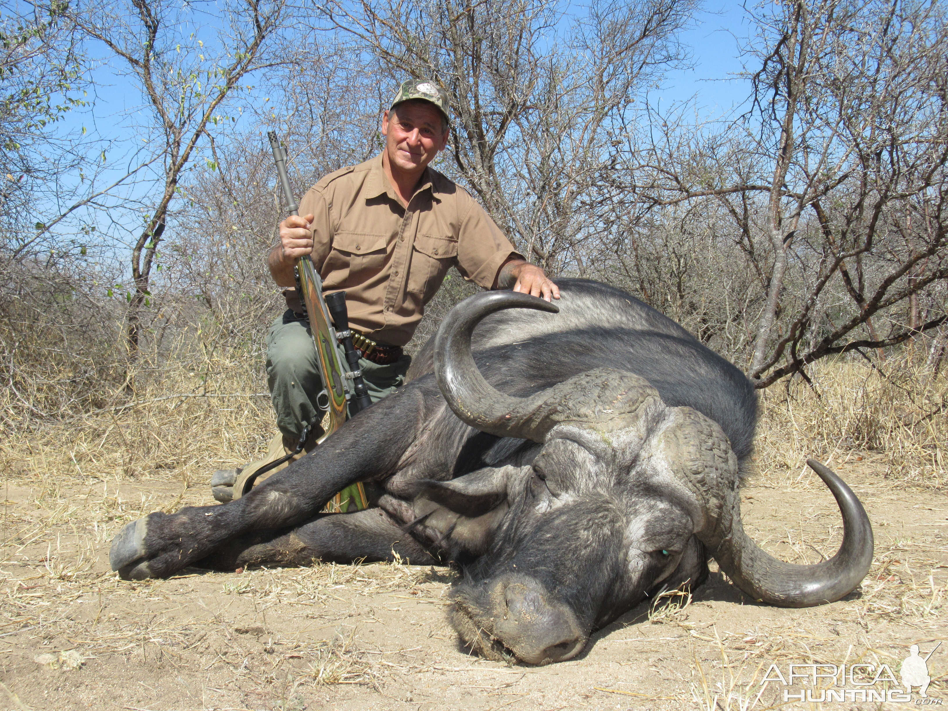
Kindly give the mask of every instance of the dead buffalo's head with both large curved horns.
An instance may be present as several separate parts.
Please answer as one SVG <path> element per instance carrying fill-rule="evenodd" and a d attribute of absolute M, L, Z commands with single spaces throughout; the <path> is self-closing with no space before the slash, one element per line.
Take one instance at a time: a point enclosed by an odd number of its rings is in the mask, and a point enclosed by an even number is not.
<path fill-rule="evenodd" d="M 498 392 L 478 371 L 470 338 L 504 308 L 556 312 L 513 292 L 464 301 L 435 342 L 435 374 L 468 425 L 538 443 L 523 465 L 425 483 L 415 512 L 477 556 L 452 593 L 455 629 L 484 656 L 530 664 L 567 660 L 593 629 L 663 586 L 696 585 L 706 556 L 755 600 L 807 607 L 852 591 L 872 559 L 856 496 L 818 463 L 843 516 L 835 556 L 793 565 L 744 533 L 738 458 L 718 423 L 665 405 L 644 378 L 597 369 L 537 394 Z"/>

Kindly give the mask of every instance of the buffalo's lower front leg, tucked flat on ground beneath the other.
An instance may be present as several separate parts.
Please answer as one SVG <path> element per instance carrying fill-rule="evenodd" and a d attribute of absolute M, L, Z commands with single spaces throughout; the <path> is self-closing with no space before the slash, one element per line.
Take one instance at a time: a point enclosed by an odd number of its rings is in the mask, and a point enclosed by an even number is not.
<path fill-rule="evenodd" d="M 294 566 L 396 559 L 416 565 L 439 561 L 379 508 L 353 514 L 320 514 L 289 531 L 260 531 L 228 540 L 194 565 L 217 571 L 250 566 Z"/>

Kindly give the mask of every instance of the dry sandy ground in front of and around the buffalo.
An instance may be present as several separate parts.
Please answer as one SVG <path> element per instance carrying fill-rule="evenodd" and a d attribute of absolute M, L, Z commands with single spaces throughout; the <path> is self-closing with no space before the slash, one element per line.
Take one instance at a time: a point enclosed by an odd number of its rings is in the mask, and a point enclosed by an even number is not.
<path fill-rule="evenodd" d="M 844 662 L 898 675 L 910 645 L 928 653 L 948 638 L 948 496 L 887 482 L 868 458 L 834 465 L 875 528 L 876 560 L 860 591 L 781 610 L 713 573 L 690 601 L 642 605 L 594 634 L 578 659 L 540 668 L 486 662 L 459 646 L 444 613 L 446 568 L 319 565 L 123 582 L 107 565 L 118 528 L 159 508 L 210 503 L 204 485 L 18 479 L 0 490 L 0 708 L 907 708 L 858 696 L 784 703 L 779 681 L 761 684 L 772 664 L 784 676 L 791 663 Z M 809 474 L 752 481 L 743 508 L 749 533 L 786 559 L 814 562 L 838 544 L 834 501 Z M 940 702 L 948 644 L 928 665 L 929 697 Z M 813 690 L 799 680 L 788 688 Z M 913 694 L 911 705 L 920 701 Z"/>

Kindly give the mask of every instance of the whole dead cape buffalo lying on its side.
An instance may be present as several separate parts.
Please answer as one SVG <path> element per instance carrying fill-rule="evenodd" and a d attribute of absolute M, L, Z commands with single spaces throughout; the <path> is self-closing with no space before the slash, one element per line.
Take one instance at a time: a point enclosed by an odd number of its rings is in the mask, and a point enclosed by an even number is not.
<path fill-rule="evenodd" d="M 463 301 L 399 392 L 237 501 L 128 524 L 112 568 L 454 559 L 455 629 L 487 657 L 530 664 L 570 659 L 646 595 L 700 583 L 707 556 L 775 605 L 852 591 L 872 529 L 825 466 L 811 462 L 842 512 L 835 556 L 789 564 L 743 531 L 757 412 L 747 378 L 628 294 L 558 283 L 556 305 L 509 291 Z M 378 484 L 373 508 L 317 513 L 356 481 Z"/>

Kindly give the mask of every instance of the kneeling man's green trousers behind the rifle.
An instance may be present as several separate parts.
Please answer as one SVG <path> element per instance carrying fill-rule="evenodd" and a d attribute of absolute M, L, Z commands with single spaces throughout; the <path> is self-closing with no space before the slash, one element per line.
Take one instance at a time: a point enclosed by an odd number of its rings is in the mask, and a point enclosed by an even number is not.
<path fill-rule="evenodd" d="M 338 349 L 343 366 L 348 368 L 342 346 Z M 410 364 L 411 356 L 402 356 L 389 365 L 360 358 L 359 369 L 372 401 L 378 402 L 400 388 Z M 266 384 L 277 411 L 277 428 L 291 442 L 300 439 L 305 425 L 319 427 L 322 411 L 316 399 L 323 386 L 316 346 L 309 321 L 297 318 L 290 309 L 273 322 L 266 337 Z"/>

